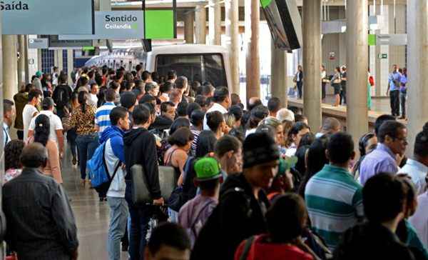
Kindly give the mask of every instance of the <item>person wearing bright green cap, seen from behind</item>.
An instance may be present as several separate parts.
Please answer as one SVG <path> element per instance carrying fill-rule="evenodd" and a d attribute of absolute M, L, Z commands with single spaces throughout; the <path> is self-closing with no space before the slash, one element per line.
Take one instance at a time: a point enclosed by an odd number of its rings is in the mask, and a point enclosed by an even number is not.
<path fill-rule="evenodd" d="M 195 186 L 200 188 L 200 194 L 184 204 L 178 213 L 178 223 L 188 231 L 192 247 L 200 229 L 218 204 L 220 182 L 223 180 L 220 164 L 213 157 L 199 159 L 194 168 Z"/>

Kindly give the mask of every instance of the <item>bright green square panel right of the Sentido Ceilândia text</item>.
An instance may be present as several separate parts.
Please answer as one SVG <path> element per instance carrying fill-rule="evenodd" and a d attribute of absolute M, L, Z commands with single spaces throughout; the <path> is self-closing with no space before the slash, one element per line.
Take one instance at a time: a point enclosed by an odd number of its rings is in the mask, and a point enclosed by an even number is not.
<path fill-rule="evenodd" d="M 174 11 L 146 10 L 146 39 L 174 39 Z"/>

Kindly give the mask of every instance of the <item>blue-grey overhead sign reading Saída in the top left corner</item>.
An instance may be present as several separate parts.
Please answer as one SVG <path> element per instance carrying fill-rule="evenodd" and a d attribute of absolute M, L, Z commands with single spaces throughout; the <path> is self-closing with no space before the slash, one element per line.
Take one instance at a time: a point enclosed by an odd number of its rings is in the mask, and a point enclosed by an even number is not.
<path fill-rule="evenodd" d="M 2 34 L 93 34 L 93 0 L 2 0 Z M 83 26 L 84 25 L 84 26 Z"/>

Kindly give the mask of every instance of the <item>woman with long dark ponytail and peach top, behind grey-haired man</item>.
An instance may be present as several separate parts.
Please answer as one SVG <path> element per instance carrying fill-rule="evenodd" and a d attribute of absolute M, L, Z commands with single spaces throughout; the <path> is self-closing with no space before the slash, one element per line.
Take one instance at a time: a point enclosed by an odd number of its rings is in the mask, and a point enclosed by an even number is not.
<path fill-rule="evenodd" d="M 34 127 L 34 139 L 30 141 L 38 142 L 48 150 L 48 161 L 42 170 L 44 174 L 54 177 L 58 184 L 62 184 L 61 168 L 59 165 L 59 151 L 55 141 L 49 139 L 51 122 L 49 117 L 41 114 L 36 117 Z"/>

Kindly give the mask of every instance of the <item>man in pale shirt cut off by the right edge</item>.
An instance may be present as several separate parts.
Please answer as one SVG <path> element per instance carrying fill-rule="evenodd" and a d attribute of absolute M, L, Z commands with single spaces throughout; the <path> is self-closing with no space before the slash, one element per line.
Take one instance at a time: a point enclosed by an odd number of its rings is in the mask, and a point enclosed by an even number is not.
<path fill-rule="evenodd" d="M 412 178 L 417 194 L 423 194 L 427 189 L 428 174 L 428 124 L 417 134 L 414 140 L 413 158 L 407 159 L 406 165 L 398 171 Z"/>

